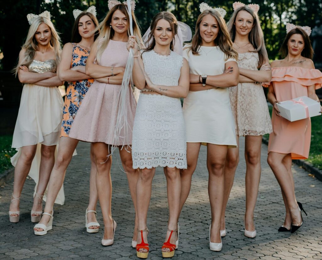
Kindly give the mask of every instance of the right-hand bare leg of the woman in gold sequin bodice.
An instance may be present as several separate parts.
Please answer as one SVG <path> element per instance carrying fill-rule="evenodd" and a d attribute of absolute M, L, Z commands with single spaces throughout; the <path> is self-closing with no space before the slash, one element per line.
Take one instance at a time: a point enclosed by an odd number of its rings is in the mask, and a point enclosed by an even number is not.
<path fill-rule="evenodd" d="M 36 193 L 38 195 L 43 195 L 47 188 L 47 184 L 52 172 L 52 167 L 55 163 L 55 149 L 56 145 L 47 146 L 41 145 L 41 160 L 39 167 L 39 181 Z M 34 211 L 42 211 L 43 209 L 43 200 L 41 198 L 33 199 L 33 208 Z M 33 216 L 40 216 L 40 214 L 32 214 Z"/>

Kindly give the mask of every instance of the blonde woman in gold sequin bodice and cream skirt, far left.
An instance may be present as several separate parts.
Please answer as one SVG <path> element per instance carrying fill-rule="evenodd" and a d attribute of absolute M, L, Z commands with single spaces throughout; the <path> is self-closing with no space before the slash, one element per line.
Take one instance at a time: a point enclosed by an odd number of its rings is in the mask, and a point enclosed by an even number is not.
<path fill-rule="evenodd" d="M 28 173 L 36 182 L 31 221 L 40 220 L 62 121 L 63 100 L 57 86 L 63 82 L 56 75 L 60 38 L 48 11 L 28 14 L 27 18 L 30 28 L 15 68 L 24 88 L 12 142 L 17 153 L 11 158 L 15 166 L 11 222 L 19 221 L 20 195 Z"/>

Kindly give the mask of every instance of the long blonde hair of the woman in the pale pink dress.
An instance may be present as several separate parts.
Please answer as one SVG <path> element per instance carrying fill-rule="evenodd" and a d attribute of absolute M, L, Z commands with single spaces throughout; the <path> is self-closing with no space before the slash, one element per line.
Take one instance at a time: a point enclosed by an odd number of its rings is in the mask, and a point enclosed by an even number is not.
<path fill-rule="evenodd" d="M 115 5 L 113 8 L 111 8 L 111 10 L 109 10 L 104 20 L 101 23 L 99 23 L 99 25 L 96 27 L 96 29 L 93 32 L 93 33 L 96 33 L 100 31 L 99 36 L 95 40 L 95 42 L 96 41 L 98 42 L 97 52 L 96 52 L 96 60 L 98 62 L 103 54 L 103 51 L 106 49 L 107 45 L 109 44 L 109 40 L 114 36 L 114 30 L 112 27 L 110 27 L 110 23 L 112 21 L 112 16 L 116 10 L 120 10 L 123 14 L 125 14 L 128 21 L 128 35 L 130 35 L 130 29 L 129 29 L 130 18 L 128 16 L 127 6 L 125 4 Z M 136 41 L 141 47 L 143 46 L 141 32 L 133 10 L 132 10 L 132 21 L 133 21 L 132 23 L 133 34 L 136 36 Z"/>

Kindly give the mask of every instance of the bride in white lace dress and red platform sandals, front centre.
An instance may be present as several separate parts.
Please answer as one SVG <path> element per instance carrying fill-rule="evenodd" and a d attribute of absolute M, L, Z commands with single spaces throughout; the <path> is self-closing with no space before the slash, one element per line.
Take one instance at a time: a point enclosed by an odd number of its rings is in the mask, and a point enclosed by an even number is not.
<path fill-rule="evenodd" d="M 179 169 L 187 168 L 180 97 L 186 97 L 189 90 L 188 62 L 172 51 L 177 27 L 173 14 L 161 12 L 152 20 L 150 43 L 142 54 L 137 51 L 133 37 L 128 42 L 128 49 L 135 49 L 133 81 L 141 89 L 133 126 L 132 159 L 133 168 L 139 168 L 137 256 L 142 258 L 148 254 L 146 219 L 157 166 L 164 167 L 170 213 L 162 255 L 173 256 L 177 247 L 181 193 Z"/>

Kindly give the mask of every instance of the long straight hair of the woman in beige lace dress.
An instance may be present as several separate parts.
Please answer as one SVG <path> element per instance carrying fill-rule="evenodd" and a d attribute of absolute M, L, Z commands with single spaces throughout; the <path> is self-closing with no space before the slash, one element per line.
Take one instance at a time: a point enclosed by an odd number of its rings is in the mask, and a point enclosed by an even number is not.
<path fill-rule="evenodd" d="M 255 49 L 252 52 L 258 52 L 259 62 L 258 62 L 257 68 L 260 68 L 265 62 L 268 61 L 268 55 L 265 47 L 264 34 L 262 29 L 260 28 L 260 19 L 258 17 L 258 14 L 248 6 L 242 6 L 240 8 L 237 8 L 233 12 L 232 17 L 227 23 L 228 31 L 232 38 L 232 42 L 234 42 L 236 37 L 236 27 L 234 23 L 235 23 L 237 14 L 242 10 L 251 14 L 254 20 L 254 24 L 253 24 L 253 27 L 251 28 L 251 32 L 248 34 L 248 40 L 250 41 L 250 43 L 253 45 Z"/>

